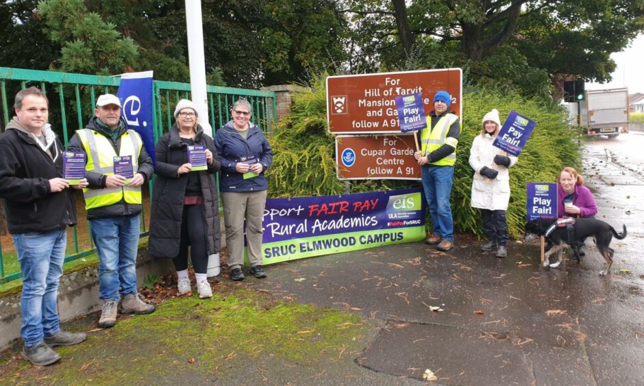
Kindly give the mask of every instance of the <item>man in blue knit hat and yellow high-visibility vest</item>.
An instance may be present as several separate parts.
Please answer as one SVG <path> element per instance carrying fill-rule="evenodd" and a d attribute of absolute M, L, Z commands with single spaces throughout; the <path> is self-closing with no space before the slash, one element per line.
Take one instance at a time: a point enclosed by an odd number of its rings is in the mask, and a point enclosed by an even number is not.
<path fill-rule="evenodd" d="M 460 122 L 449 110 L 451 97 L 446 91 L 434 95 L 434 111 L 427 117 L 427 128 L 417 134 L 421 151 L 414 158 L 421 166 L 425 197 L 432 218 L 432 234 L 425 244 L 447 251 L 454 246 L 454 221 L 451 218 L 449 195 L 454 179 L 456 145 L 460 138 Z"/>

